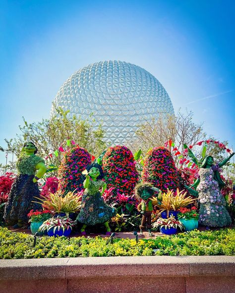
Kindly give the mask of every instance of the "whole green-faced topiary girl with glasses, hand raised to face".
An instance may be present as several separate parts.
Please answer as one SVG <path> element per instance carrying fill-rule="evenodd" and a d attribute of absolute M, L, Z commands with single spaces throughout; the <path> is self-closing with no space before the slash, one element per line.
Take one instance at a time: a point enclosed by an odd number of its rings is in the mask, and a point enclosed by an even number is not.
<path fill-rule="evenodd" d="M 91 164 L 86 168 L 86 180 L 83 183 L 85 188 L 82 196 L 82 207 L 77 221 L 83 223 L 81 234 L 85 235 L 86 226 L 94 226 L 96 224 L 104 224 L 107 229 L 107 235 L 111 229 L 108 221 L 116 215 L 116 209 L 107 205 L 101 195 L 106 190 L 106 183 L 102 181 L 103 170 L 98 164 Z M 100 190 L 102 191 L 100 192 Z"/>

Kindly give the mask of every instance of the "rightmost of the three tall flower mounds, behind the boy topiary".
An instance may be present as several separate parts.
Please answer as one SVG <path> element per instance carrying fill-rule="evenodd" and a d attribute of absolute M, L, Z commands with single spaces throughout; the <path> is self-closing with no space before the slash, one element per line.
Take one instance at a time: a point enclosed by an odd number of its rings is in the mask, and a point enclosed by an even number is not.
<path fill-rule="evenodd" d="M 164 147 L 154 147 L 147 152 L 142 173 L 143 182 L 149 182 L 154 187 L 176 191 L 178 175 L 176 165 L 169 150 Z"/>

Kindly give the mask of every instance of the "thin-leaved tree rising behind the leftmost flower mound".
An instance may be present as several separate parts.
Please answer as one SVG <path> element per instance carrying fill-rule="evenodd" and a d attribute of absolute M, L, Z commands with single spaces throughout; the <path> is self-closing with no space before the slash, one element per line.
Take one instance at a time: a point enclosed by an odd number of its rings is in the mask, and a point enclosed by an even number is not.
<path fill-rule="evenodd" d="M 5 140 L 7 147 L 0 148 L 7 152 L 13 152 L 19 156 L 20 150 L 25 141 L 35 143 L 38 147 L 40 157 L 48 156 L 47 165 L 59 166 L 62 159 L 62 152 L 58 156 L 49 154 L 53 153 L 60 146 L 64 145 L 69 138 L 79 142 L 80 147 L 84 147 L 93 155 L 99 155 L 106 144 L 103 141 L 104 131 L 101 125 L 94 128 L 94 119 L 92 116 L 88 120 L 81 120 L 69 111 L 63 111 L 60 107 L 56 109 L 57 114 L 51 119 L 43 119 L 41 122 L 28 123 L 23 118 L 23 126 L 19 126 L 20 133 L 16 138 Z M 57 175 L 57 170 L 52 172 Z"/>

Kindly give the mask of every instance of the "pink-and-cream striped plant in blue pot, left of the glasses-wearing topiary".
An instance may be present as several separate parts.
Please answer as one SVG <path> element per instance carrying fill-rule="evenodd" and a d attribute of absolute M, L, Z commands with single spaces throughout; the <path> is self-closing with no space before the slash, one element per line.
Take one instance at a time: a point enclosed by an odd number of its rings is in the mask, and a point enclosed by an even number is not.
<path fill-rule="evenodd" d="M 48 236 L 69 236 L 72 227 L 76 225 L 75 221 L 72 221 L 68 217 L 56 217 L 45 221 L 39 228 L 40 232 L 47 232 Z"/>

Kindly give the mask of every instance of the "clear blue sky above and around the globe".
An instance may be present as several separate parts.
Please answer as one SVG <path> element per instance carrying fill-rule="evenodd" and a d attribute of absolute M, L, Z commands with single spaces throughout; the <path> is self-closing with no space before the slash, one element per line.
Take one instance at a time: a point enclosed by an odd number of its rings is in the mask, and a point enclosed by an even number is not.
<path fill-rule="evenodd" d="M 235 148 L 234 19 L 234 0 L 1 0 L 0 145 L 22 116 L 49 117 L 73 72 L 121 60 L 152 73 L 175 111 L 193 110 Z"/>

